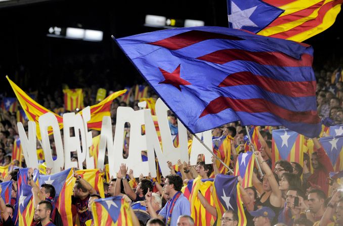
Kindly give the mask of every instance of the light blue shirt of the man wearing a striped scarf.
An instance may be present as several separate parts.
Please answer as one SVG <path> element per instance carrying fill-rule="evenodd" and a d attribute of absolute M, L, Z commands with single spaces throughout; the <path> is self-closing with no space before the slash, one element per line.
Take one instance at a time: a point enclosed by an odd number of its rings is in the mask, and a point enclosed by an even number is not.
<path fill-rule="evenodd" d="M 167 217 L 167 204 L 161 209 L 159 215 L 163 216 L 164 219 Z M 173 212 L 171 212 L 170 225 L 177 225 L 180 215 L 191 215 L 191 204 L 183 194 L 175 202 Z"/>

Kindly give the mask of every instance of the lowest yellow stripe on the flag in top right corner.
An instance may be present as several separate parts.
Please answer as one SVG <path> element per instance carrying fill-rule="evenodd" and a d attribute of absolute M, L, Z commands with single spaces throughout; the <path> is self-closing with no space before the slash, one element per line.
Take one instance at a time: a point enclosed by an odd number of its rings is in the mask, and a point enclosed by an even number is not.
<path fill-rule="evenodd" d="M 336 17 L 338 13 L 340 12 L 340 5 L 336 5 L 333 8 L 331 8 L 329 11 L 326 12 L 323 18 L 323 22 L 318 25 L 317 27 L 314 27 L 310 30 L 304 31 L 302 33 L 296 34 L 292 37 L 287 38 L 288 40 L 293 41 L 299 41 L 302 42 L 316 34 L 319 34 L 320 32 L 326 30 L 329 28 L 336 20 Z"/>

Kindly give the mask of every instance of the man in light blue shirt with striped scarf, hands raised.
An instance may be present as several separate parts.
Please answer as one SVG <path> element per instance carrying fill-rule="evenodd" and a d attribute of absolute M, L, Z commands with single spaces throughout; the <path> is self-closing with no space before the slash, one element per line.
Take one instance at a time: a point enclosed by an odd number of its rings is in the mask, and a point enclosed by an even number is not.
<path fill-rule="evenodd" d="M 191 215 L 191 205 L 188 199 L 181 193 L 182 178 L 179 175 L 168 175 L 165 179 L 164 194 L 169 197 L 169 201 L 162 210 L 157 213 L 150 211 L 152 218 L 164 219 L 165 225 L 177 225 L 180 215 Z M 145 195 L 147 206 L 152 209 L 151 192 Z"/>

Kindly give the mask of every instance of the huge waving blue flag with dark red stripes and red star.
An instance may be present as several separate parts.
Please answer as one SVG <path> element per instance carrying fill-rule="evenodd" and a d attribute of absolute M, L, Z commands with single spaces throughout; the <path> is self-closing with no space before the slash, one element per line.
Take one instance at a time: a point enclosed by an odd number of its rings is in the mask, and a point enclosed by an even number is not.
<path fill-rule="evenodd" d="M 224 27 L 188 27 L 115 39 L 193 133 L 240 120 L 316 137 L 313 49 Z"/>

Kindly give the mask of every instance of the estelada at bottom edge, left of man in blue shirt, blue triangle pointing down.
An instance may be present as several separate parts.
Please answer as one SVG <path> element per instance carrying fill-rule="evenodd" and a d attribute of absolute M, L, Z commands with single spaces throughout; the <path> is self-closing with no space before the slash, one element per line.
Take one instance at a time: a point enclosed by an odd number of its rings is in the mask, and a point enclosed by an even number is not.
<path fill-rule="evenodd" d="M 121 196 L 96 199 L 91 206 L 94 226 L 133 225 L 130 205 Z"/>

